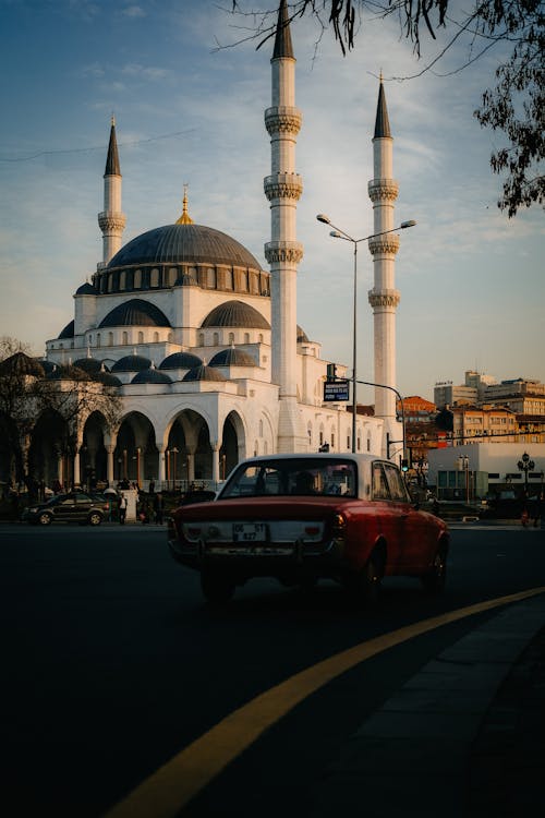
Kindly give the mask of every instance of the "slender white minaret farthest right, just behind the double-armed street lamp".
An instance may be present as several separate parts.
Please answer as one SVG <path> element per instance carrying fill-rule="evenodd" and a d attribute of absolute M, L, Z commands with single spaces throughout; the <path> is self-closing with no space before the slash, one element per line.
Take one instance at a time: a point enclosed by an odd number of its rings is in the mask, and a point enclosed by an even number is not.
<path fill-rule="evenodd" d="M 398 183 L 392 179 L 392 145 L 386 96 L 380 74 L 378 105 L 373 137 L 373 173 L 368 183 L 368 194 L 373 202 L 373 232 L 391 230 L 393 225 L 393 203 L 398 196 Z M 373 308 L 374 348 L 376 384 L 397 387 L 396 384 L 396 310 L 400 293 L 396 289 L 396 253 L 399 236 L 389 233 L 370 240 L 373 255 L 374 287 L 368 300 Z M 384 441 L 399 440 L 396 421 L 396 393 L 375 387 L 375 417 L 384 419 Z M 386 449 L 386 443 L 385 443 Z M 386 452 L 385 452 L 386 454 Z"/>

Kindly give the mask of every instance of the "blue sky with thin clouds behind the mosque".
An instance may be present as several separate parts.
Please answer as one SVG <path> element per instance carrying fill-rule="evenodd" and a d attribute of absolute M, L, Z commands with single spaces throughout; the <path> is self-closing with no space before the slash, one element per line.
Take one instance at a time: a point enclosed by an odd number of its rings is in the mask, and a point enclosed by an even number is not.
<path fill-rule="evenodd" d="M 73 293 L 102 257 L 97 214 L 112 115 L 123 243 L 174 222 L 186 183 L 194 221 L 232 236 L 266 268 L 272 44 L 240 43 L 253 19 L 233 17 L 231 5 L 0 0 L 0 336 L 43 354 L 73 317 Z M 501 179 L 489 156 L 504 143 L 473 117 L 501 47 L 450 73 L 471 55 L 460 38 L 439 68 L 400 80 L 419 74 L 444 38 L 426 39 L 419 62 L 397 20 L 365 15 L 344 58 L 310 17 L 292 24 L 292 41 L 303 113 L 298 323 L 322 357 L 350 368 L 353 256 L 316 214 L 354 239 L 373 232 L 367 182 L 382 71 L 396 225 L 417 221 L 401 231 L 396 263 L 399 392 L 432 400 L 436 382 L 463 383 L 467 370 L 545 381 L 544 213 L 534 206 L 508 219 L 497 208 Z M 373 381 L 373 264 L 365 242 L 359 248 L 358 376 Z M 373 390 L 361 387 L 359 397 L 372 402 Z"/>

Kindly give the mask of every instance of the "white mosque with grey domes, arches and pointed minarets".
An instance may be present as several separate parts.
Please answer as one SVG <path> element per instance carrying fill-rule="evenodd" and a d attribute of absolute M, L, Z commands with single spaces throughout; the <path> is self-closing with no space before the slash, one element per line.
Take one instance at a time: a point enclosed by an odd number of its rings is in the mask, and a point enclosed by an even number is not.
<path fill-rule="evenodd" d="M 122 178 L 112 120 L 98 215 L 102 261 L 74 294 L 74 317 L 46 344 L 46 372 L 66 364 L 100 381 L 122 404 L 120 423 L 99 412 L 77 419 L 70 457 L 48 435 L 35 442 L 34 466 L 46 482 L 83 483 L 93 471 L 110 484 L 217 484 L 243 457 L 277 452 L 370 452 L 386 455 L 387 434 L 400 438 L 396 396 L 375 392 L 375 414 L 324 402 L 329 361 L 296 321 L 296 274 L 303 246 L 296 240 L 296 205 L 303 191 L 295 170 L 302 113 L 295 107 L 295 59 L 287 4 L 281 0 L 271 58 L 269 269 L 234 238 L 194 224 L 187 191 L 172 225 L 123 244 Z M 392 179 L 392 139 L 383 83 L 373 136 L 374 209 L 370 241 L 374 288 L 375 381 L 396 386 L 393 229 L 398 194 Z M 337 375 L 347 376 L 337 365 Z M 348 373 L 350 376 L 350 373 Z M 49 450 L 48 450 L 49 446 Z M 39 452 L 39 458 L 37 456 Z M 57 453 L 57 454 L 56 454 Z M 39 464 L 38 464 L 38 459 Z M 31 457 L 31 460 L 33 458 Z M 39 467 L 39 468 L 38 468 Z M 38 474 L 36 474 L 38 477 Z"/>

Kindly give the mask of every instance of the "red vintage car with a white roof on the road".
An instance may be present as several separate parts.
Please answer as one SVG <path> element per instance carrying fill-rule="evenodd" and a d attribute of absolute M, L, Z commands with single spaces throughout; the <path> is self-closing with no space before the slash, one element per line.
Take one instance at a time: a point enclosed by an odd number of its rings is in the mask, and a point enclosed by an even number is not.
<path fill-rule="evenodd" d="M 449 544 L 447 526 L 417 509 L 398 467 L 371 455 L 244 460 L 215 500 L 178 508 L 168 537 L 213 603 L 252 577 L 302 587 L 335 579 L 366 603 L 387 576 L 417 577 L 438 592 Z"/>

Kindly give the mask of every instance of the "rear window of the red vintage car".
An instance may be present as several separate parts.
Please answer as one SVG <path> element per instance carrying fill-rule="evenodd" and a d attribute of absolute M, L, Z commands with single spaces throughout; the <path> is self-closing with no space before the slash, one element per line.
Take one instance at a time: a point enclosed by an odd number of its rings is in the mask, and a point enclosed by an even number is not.
<path fill-rule="evenodd" d="M 294 457 L 241 465 L 226 483 L 225 497 L 342 495 L 355 497 L 356 465 L 352 460 Z"/>

